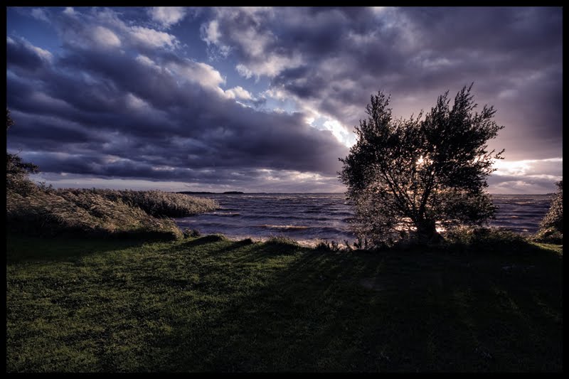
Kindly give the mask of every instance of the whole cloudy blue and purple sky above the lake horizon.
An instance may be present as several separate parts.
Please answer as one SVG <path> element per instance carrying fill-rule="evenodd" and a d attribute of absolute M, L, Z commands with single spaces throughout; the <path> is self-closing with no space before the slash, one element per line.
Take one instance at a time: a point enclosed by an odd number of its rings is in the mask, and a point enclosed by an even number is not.
<path fill-rule="evenodd" d="M 563 12 L 9 7 L 7 149 L 56 188 L 344 192 L 371 95 L 396 118 L 474 82 L 503 125 L 490 193 L 563 166 Z"/>

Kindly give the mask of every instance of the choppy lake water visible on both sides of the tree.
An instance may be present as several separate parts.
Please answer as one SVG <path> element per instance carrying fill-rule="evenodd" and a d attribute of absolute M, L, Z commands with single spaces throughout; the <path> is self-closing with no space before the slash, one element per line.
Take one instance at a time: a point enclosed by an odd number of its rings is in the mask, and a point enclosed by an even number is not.
<path fill-rule="evenodd" d="M 343 193 L 247 193 L 192 195 L 212 198 L 220 208 L 176 218 L 180 228 L 203 235 L 221 233 L 231 239 L 265 240 L 285 236 L 305 245 L 316 240 L 353 241 L 347 219 L 353 213 Z M 551 203 L 550 195 L 493 195 L 499 209 L 490 226 L 516 233 L 535 233 Z"/>

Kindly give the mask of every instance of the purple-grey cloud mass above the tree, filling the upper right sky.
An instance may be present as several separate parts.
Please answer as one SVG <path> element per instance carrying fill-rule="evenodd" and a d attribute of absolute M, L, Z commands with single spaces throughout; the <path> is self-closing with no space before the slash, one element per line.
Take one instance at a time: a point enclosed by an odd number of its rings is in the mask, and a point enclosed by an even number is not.
<path fill-rule="evenodd" d="M 238 57 L 241 73 L 270 76 L 350 130 L 378 90 L 408 117 L 474 82 L 511 159 L 561 154 L 560 8 L 218 9 L 210 22 L 204 40 Z"/>

